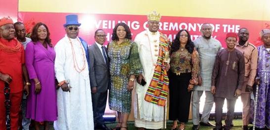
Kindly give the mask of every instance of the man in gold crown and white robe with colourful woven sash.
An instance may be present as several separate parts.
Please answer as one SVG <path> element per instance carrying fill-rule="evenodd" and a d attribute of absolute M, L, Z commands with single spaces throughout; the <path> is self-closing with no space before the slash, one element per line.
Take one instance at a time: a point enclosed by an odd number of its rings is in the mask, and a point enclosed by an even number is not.
<path fill-rule="evenodd" d="M 170 68 L 169 51 L 171 43 L 158 32 L 161 15 L 152 11 L 147 15 L 148 29 L 135 37 L 143 74 L 137 77 L 134 114 L 138 130 L 166 127 L 166 102 Z M 143 80 L 146 84 L 143 84 Z"/>

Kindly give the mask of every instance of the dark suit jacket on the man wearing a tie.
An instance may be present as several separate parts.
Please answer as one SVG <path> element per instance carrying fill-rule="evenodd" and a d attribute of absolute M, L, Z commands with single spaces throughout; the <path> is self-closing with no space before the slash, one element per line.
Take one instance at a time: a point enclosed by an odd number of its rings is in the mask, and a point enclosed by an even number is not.
<path fill-rule="evenodd" d="M 107 52 L 106 47 L 105 52 Z M 103 93 L 109 88 L 109 61 L 107 61 L 107 64 L 105 63 L 102 52 L 96 43 L 89 46 L 88 54 L 90 61 L 89 73 L 91 88 L 96 87 L 98 93 Z"/>

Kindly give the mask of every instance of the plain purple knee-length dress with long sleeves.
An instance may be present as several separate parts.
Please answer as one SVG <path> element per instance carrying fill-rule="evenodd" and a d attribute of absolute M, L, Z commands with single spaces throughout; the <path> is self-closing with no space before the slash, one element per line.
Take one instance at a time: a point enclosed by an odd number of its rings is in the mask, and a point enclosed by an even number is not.
<path fill-rule="evenodd" d="M 41 42 L 30 42 L 25 50 L 25 63 L 31 80 L 27 97 L 26 118 L 43 122 L 57 120 L 53 47 L 45 48 Z M 35 94 L 34 78 L 41 83 L 41 92 Z"/>

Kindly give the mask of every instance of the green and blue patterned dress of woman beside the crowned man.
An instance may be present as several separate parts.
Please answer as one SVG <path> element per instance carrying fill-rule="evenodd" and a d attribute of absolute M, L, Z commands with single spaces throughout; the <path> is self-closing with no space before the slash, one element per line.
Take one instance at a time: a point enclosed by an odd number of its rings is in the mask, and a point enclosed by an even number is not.
<path fill-rule="evenodd" d="M 131 92 L 128 92 L 130 75 L 142 73 L 137 45 L 134 41 L 125 39 L 117 44 L 111 41 L 108 45 L 108 57 L 110 58 L 109 107 L 111 110 L 130 113 Z"/>

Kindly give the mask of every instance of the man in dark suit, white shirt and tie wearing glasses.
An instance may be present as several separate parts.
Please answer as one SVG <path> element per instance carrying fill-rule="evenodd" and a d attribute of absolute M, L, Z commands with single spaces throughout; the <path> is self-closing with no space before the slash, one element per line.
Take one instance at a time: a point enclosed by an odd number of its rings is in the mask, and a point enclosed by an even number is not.
<path fill-rule="evenodd" d="M 92 92 L 94 129 L 111 130 L 103 121 L 109 88 L 109 61 L 107 48 L 103 46 L 106 33 L 103 30 L 95 31 L 95 43 L 89 47 L 90 84 Z"/>

